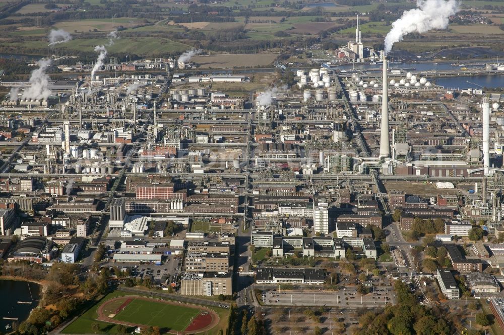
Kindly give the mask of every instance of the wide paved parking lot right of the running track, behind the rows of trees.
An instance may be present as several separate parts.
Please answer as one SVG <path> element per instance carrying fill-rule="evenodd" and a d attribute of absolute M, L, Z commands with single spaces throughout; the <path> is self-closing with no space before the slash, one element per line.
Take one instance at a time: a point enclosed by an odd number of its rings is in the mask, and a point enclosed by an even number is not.
<path fill-rule="evenodd" d="M 355 286 L 346 286 L 337 291 L 285 291 L 266 290 L 265 305 L 270 306 L 337 306 L 337 307 L 384 307 L 394 303 L 390 288 L 379 286 L 365 295 L 357 293 Z"/>

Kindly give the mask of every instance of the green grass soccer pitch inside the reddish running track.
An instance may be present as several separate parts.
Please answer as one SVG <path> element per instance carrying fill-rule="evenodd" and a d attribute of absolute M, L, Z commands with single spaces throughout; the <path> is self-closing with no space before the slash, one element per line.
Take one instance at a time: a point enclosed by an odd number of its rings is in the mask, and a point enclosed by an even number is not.
<path fill-rule="evenodd" d="M 134 299 L 114 316 L 114 320 L 184 330 L 199 313 L 195 308 Z"/>

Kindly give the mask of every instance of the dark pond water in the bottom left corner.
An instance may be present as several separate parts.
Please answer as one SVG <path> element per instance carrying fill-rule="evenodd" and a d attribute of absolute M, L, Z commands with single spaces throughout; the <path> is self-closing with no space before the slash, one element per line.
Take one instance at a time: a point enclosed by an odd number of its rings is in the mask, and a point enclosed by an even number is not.
<path fill-rule="evenodd" d="M 36 283 L 0 280 L 0 332 L 6 332 L 6 325 L 11 325 L 13 320 L 5 317 L 18 318 L 18 322 L 28 318 L 30 311 L 38 305 L 40 299 L 40 285 Z M 18 303 L 25 301 L 27 303 Z"/>

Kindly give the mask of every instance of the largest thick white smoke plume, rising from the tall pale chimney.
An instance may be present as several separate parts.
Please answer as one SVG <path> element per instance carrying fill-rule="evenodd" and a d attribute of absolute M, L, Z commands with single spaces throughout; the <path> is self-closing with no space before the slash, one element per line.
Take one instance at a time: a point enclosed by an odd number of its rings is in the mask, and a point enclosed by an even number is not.
<path fill-rule="evenodd" d="M 385 37 L 386 54 L 406 34 L 447 28 L 450 16 L 459 11 L 460 3 L 457 0 L 417 0 L 416 6 L 418 8 L 404 11 L 403 16 L 392 24 L 392 30 Z"/>

